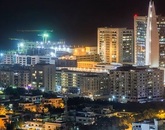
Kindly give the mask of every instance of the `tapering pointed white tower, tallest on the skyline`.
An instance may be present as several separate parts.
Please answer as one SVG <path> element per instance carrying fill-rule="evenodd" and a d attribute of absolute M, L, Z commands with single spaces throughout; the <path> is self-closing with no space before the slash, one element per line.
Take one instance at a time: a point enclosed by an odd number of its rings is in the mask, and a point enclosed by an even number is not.
<path fill-rule="evenodd" d="M 150 1 L 146 28 L 145 65 L 159 67 L 159 35 L 154 2 Z"/>

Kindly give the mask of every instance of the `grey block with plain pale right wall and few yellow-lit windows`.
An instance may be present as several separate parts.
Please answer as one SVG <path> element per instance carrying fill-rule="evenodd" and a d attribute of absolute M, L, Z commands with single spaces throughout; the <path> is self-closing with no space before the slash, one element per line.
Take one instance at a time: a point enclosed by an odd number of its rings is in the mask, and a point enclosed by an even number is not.
<path fill-rule="evenodd" d="M 36 64 L 31 68 L 31 85 L 45 91 L 55 91 L 55 65 Z"/>

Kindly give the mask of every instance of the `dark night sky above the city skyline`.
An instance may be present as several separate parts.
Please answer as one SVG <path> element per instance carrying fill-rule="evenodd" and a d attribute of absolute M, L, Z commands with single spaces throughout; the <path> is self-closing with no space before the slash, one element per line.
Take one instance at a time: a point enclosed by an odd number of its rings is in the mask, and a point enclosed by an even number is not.
<path fill-rule="evenodd" d="M 16 48 L 9 38 L 41 40 L 41 32 L 54 30 L 51 40 L 96 45 L 97 27 L 133 28 L 133 16 L 147 15 L 149 0 L 0 0 L 0 50 Z M 157 14 L 165 16 L 165 0 L 155 0 Z"/>

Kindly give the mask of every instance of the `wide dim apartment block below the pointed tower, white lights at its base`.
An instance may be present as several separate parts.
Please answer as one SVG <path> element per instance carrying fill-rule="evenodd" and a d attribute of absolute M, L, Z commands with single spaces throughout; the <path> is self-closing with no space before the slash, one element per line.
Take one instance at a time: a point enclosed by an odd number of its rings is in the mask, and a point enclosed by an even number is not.
<path fill-rule="evenodd" d="M 161 101 L 164 96 L 164 71 L 160 69 L 118 67 L 110 70 L 109 80 L 112 101 Z"/>

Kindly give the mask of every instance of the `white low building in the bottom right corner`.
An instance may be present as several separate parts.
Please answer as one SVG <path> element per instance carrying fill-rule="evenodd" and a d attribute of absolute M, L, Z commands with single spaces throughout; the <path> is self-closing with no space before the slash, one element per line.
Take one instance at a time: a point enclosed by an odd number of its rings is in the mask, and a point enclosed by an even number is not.
<path fill-rule="evenodd" d="M 165 120 L 145 120 L 132 123 L 132 130 L 164 130 Z"/>

